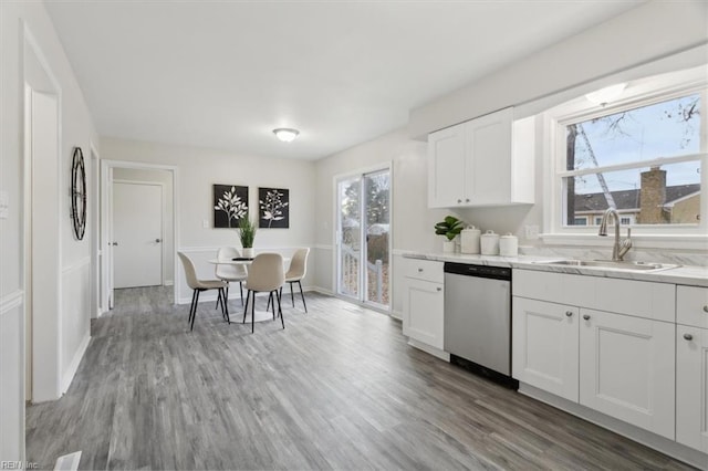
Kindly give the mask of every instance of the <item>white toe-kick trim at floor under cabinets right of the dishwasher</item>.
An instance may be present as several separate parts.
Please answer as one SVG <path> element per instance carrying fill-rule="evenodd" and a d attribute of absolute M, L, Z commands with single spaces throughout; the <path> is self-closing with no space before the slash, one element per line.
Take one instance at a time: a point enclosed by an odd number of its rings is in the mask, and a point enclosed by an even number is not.
<path fill-rule="evenodd" d="M 674 440 L 669 440 L 648 430 L 641 429 L 632 423 L 615 419 L 614 417 L 610 417 L 580 404 L 552 395 L 537 387 L 521 383 L 519 385 L 519 393 L 564 410 L 568 414 L 580 417 L 581 419 L 587 420 L 598 427 L 612 430 L 615 433 L 627 437 L 631 440 L 658 450 L 664 454 L 668 454 L 669 457 L 689 463 L 698 469 L 705 469 L 705 465 L 708 462 L 708 454 L 706 453 L 701 453 L 698 450 L 677 443 Z"/>

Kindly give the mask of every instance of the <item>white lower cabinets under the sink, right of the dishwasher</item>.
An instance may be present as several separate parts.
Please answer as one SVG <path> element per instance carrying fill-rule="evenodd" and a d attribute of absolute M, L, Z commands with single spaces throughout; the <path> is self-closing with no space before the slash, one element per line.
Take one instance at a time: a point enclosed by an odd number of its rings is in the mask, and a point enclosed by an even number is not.
<path fill-rule="evenodd" d="M 513 377 L 706 452 L 705 290 L 514 270 Z"/>

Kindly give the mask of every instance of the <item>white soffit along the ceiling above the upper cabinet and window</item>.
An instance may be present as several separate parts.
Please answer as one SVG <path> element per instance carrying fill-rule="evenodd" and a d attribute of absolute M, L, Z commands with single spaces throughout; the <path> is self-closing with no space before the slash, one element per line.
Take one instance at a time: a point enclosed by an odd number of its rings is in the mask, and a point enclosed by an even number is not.
<path fill-rule="evenodd" d="M 647 73 L 638 67 L 706 44 L 706 31 L 708 2 L 647 2 L 413 109 L 409 134 L 424 139 L 433 130 L 558 94 L 555 101 L 543 100 L 544 106 L 550 107 L 568 100 L 568 95 L 560 92 L 580 87 L 575 95 L 580 96 L 612 83 L 611 76 L 616 74 L 622 74 L 624 80 L 634 80 L 659 73 Z M 705 62 L 706 53 L 697 59 Z M 629 69 L 636 69 L 636 73 L 633 75 Z M 593 81 L 595 83 L 590 84 Z"/>

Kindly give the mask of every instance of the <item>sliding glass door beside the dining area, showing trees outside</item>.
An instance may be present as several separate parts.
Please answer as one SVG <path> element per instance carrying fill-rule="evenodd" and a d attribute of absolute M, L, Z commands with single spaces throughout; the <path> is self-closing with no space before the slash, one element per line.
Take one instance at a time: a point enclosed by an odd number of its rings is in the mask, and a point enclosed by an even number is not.
<path fill-rule="evenodd" d="M 337 193 L 337 293 L 388 310 L 391 170 L 341 178 Z"/>

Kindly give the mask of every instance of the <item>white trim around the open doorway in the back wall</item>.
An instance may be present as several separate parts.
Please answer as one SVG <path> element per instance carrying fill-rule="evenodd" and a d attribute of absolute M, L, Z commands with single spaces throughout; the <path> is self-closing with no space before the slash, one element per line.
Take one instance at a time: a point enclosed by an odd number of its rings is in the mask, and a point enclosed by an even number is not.
<path fill-rule="evenodd" d="M 175 283 L 173 284 L 173 296 L 175 302 L 177 302 L 179 286 L 177 283 L 177 270 L 179 268 L 179 262 L 177 260 L 177 249 L 179 248 L 179 168 L 173 165 L 158 165 L 158 164 L 146 164 L 142 161 L 129 161 L 129 160 L 101 160 L 101 249 L 98 253 L 101 255 L 101 312 L 105 313 L 110 311 L 113 306 L 113 285 L 112 285 L 112 276 L 113 272 L 112 266 L 112 257 L 111 249 L 108 245 L 111 238 L 111 227 L 113 224 L 111 210 L 112 201 L 111 201 L 111 189 L 113 186 L 112 181 L 112 172 L 114 168 L 132 168 L 132 169 L 143 169 L 143 170 L 167 170 L 171 174 L 173 179 L 173 266 L 175 272 Z M 164 198 L 163 198 L 164 201 Z M 164 227 L 164 224 L 163 224 Z M 166 231 L 167 228 L 164 229 Z M 163 233 L 164 239 L 165 232 Z M 164 245 L 164 244 L 163 244 Z M 166 250 L 163 248 L 163 251 Z M 164 253 L 164 252 L 163 252 Z M 163 259 L 163 261 L 166 259 Z M 163 275 L 164 276 L 164 275 Z M 164 282 L 164 279 L 163 279 Z"/>

